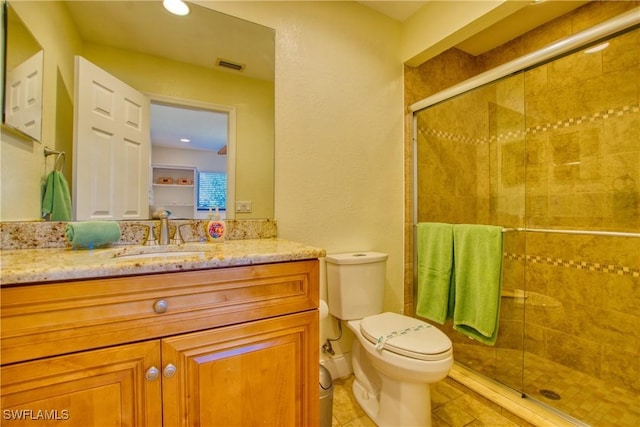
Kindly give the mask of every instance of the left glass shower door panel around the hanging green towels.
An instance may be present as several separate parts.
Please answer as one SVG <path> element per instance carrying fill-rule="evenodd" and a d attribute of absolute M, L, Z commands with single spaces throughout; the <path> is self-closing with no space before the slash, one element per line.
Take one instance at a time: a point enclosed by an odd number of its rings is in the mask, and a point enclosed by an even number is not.
<path fill-rule="evenodd" d="M 524 79 L 517 74 L 416 114 L 417 222 L 524 226 Z M 495 346 L 453 330 L 458 363 L 522 390 L 524 238 L 505 233 Z"/>

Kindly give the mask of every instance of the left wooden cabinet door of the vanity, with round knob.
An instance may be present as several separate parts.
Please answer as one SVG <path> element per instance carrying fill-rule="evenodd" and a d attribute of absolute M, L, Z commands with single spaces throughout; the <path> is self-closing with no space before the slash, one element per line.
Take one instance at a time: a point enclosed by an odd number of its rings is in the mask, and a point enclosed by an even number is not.
<path fill-rule="evenodd" d="M 162 425 L 160 342 L 148 341 L 1 368 L 2 426 Z"/>

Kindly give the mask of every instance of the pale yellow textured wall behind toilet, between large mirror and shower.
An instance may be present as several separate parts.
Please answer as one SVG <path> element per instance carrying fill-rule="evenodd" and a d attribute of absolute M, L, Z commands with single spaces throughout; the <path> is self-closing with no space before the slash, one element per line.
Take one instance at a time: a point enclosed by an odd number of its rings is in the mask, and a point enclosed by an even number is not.
<path fill-rule="evenodd" d="M 329 253 L 388 253 L 385 308 L 401 312 L 400 24 L 356 2 L 224 6 L 215 4 L 276 30 L 278 234 Z M 321 341 L 334 328 L 325 320 Z M 350 351 L 345 335 L 338 353 Z"/>

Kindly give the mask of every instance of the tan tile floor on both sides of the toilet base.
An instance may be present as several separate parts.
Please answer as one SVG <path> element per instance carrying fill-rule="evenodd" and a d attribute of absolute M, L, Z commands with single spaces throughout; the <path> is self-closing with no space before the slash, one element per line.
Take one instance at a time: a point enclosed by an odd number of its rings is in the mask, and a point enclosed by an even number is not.
<path fill-rule="evenodd" d="M 351 392 L 353 375 L 334 381 L 332 427 L 375 426 Z M 431 386 L 432 427 L 530 427 L 530 423 L 474 396 L 456 381 L 445 378 Z M 400 426 L 398 426 L 400 427 Z"/>

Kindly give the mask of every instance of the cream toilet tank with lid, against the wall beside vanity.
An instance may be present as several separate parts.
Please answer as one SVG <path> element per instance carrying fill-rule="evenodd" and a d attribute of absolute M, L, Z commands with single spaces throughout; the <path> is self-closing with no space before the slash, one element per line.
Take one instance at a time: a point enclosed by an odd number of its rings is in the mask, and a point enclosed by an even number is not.
<path fill-rule="evenodd" d="M 387 258 L 379 252 L 327 255 L 329 313 L 342 320 L 382 313 Z"/>

